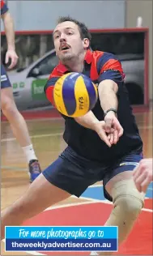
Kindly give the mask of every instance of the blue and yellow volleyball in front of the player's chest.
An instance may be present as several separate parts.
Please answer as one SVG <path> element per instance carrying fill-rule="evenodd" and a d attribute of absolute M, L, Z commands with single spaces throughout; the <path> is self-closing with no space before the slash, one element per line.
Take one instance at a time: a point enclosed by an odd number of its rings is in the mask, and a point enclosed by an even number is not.
<path fill-rule="evenodd" d="M 62 75 L 53 89 L 57 110 L 67 117 L 81 117 L 94 108 L 98 98 L 97 87 L 87 75 L 71 72 Z"/>

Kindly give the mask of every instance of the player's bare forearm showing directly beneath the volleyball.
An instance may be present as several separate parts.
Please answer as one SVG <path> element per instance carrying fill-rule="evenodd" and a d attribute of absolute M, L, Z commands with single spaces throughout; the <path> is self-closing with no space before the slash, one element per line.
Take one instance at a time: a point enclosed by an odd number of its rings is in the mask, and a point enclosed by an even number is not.
<path fill-rule="evenodd" d="M 99 122 L 94 113 L 92 113 L 91 111 L 89 111 L 83 117 L 75 117 L 74 120 L 78 122 L 79 125 L 91 130 L 95 130 L 95 124 Z"/>

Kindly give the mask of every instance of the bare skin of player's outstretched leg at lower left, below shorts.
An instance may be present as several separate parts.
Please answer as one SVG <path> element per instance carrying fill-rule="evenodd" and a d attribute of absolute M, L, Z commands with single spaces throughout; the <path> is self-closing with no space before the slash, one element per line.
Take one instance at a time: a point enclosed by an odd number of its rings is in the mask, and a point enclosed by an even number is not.
<path fill-rule="evenodd" d="M 24 220 L 69 197 L 68 192 L 53 186 L 40 174 L 21 198 L 2 211 L 1 239 L 5 235 L 5 226 L 21 225 Z"/>

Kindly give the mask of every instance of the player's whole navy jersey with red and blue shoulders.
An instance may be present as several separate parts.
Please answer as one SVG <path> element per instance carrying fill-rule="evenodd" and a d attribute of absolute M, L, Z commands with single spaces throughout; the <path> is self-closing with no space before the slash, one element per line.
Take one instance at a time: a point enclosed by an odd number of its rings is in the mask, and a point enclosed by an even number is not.
<path fill-rule="evenodd" d="M 45 85 L 45 95 L 53 103 L 53 86 L 62 75 L 71 72 L 61 62 L 54 68 Z M 117 160 L 117 157 L 125 156 L 130 152 L 139 153 L 142 151 L 142 139 L 138 133 L 128 92 L 125 87 L 125 75 L 121 62 L 112 53 L 87 50 L 84 58 L 83 74 L 91 78 L 93 83 L 99 84 L 105 79 L 111 79 L 118 85 L 118 110 L 117 117 L 124 129 L 124 134 L 116 145 L 108 147 L 95 131 L 80 126 L 74 118 L 65 118 L 65 132 L 63 138 L 80 156 L 89 160 L 110 162 Z M 99 120 L 104 120 L 104 111 L 100 106 L 100 99 L 92 112 Z"/>

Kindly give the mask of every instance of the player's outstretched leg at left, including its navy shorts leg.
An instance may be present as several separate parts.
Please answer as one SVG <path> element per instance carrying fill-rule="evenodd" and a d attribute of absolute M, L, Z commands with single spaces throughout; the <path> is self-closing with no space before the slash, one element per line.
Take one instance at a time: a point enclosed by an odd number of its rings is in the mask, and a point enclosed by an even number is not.
<path fill-rule="evenodd" d="M 20 225 L 45 208 L 69 198 L 71 194 L 79 197 L 87 186 L 94 183 L 93 175 L 87 178 L 83 160 L 72 153 L 66 148 L 62 155 L 33 181 L 21 198 L 2 211 L 2 238 L 5 226 Z"/>

